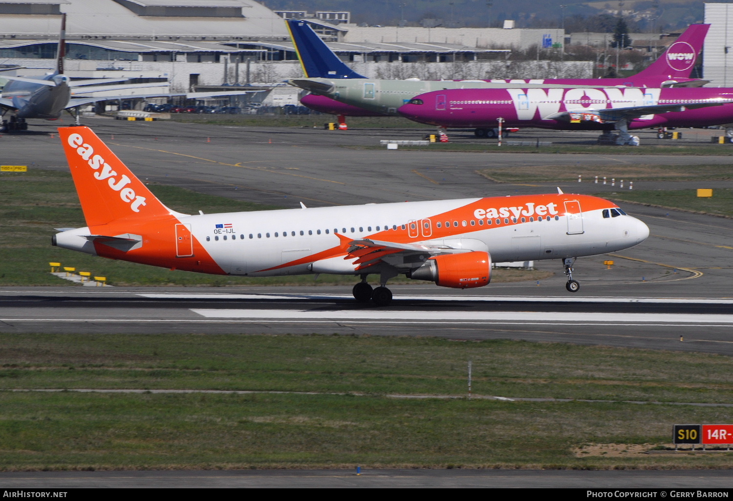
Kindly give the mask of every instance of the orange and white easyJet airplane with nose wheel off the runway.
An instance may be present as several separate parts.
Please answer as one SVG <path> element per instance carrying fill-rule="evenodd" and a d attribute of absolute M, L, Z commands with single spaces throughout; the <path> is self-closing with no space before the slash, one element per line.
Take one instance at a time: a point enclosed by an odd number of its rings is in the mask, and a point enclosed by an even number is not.
<path fill-rule="evenodd" d="M 53 244 L 110 259 L 171 270 L 266 277 L 358 275 L 356 300 L 388 305 L 399 274 L 438 286 L 485 286 L 491 262 L 561 259 L 567 290 L 578 291 L 578 256 L 643 242 L 647 225 L 616 204 L 585 195 L 465 198 L 181 214 L 155 198 L 88 127 L 59 136 L 87 226 L 54 235 Z M 380 275 L 372 289 L 367 275 Z"/>

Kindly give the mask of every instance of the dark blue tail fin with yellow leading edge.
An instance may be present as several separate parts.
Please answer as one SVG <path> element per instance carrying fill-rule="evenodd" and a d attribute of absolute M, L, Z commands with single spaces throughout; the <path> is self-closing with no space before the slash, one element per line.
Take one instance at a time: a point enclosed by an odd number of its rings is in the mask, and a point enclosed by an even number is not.
<path fill-rule="evenodd" d="M 285 23 L 307 78 L 367 78 L 347 67 L 306 21 L 291 19 Z"/>

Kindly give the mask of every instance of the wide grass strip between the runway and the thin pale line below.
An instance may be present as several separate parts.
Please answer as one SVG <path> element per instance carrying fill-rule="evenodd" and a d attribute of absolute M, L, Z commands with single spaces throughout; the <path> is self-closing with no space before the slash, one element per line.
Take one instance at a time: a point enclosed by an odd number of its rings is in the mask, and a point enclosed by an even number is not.
<path fill-rule="evenodd" d="M 0 344 L 0 390 L 463 396 L 472 360 L 474 393 L 486 396 L 733 403 L 732 359 L 719 355 L 342 335 L 3 334 Z"/>

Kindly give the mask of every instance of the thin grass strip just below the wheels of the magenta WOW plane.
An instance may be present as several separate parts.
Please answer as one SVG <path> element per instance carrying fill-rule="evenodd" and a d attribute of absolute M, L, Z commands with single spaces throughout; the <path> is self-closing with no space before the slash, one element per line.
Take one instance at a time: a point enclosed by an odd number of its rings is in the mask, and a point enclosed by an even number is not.
<path fill-rule="evenodd" d="M 509 139 L 509 141 L 514 141 Z M 522 141 L 517 139 L 517 141 Z M 721 147 L 722 146 L 722 147 Z M 385 146 L 345 146 L 353 149 L 384 149 Z M 496 142 L 486 144 L 435 143 L 429 146 L 399 146 L 405 151 L 419 152 L 476 152 L 476 153 L 582 153 L 583 155 L 733 155 L 732 148 L 724 144 L 685 144 L 680 146 L 597 146 L 553 144 L 551 146 L 508 146 L 498 147 Z"/>

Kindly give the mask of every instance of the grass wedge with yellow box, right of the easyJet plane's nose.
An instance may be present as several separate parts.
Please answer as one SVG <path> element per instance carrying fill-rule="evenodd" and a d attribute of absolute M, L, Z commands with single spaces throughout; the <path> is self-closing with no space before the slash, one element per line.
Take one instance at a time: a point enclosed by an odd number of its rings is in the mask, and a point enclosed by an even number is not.
<path fill-rule="evenodd" d="M 710 185 L 710 188 L 713 188 L 713 185 Z M 603 196 L 608 198 L 608 193 Z M 733 216 L 733 190 L 731 188 L 713 188 L 712 197 L 698 197 L 697 190 L 619 190 L 611 196 L 611 200 Z"/>

